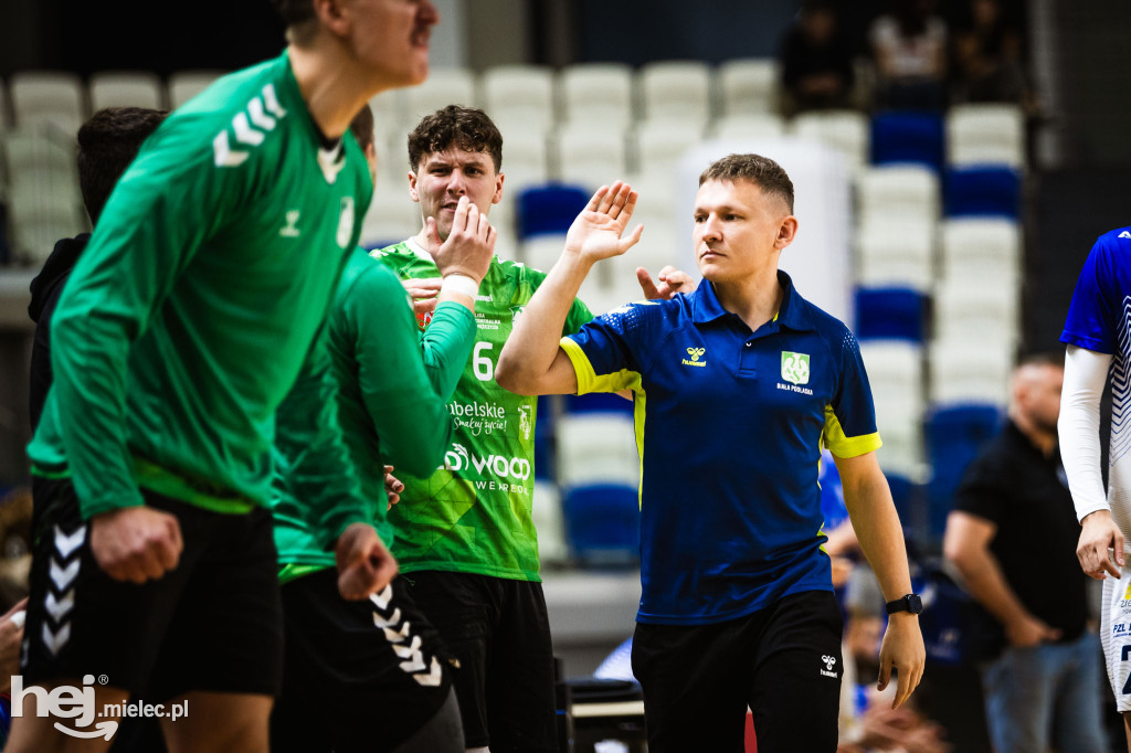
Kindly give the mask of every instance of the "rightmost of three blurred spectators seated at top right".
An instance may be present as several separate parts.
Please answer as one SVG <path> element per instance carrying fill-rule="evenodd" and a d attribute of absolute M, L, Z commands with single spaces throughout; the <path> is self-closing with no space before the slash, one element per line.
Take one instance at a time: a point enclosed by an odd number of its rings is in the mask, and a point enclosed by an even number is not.
<path fill-rule="evenodd" d="M 955 32 L 956 102 L 1012 102 L 1027 97 L 1021 35 L 1001 0 L 970 0 L 968 20 Z"/>

